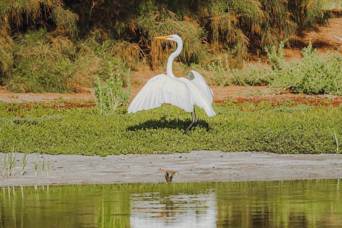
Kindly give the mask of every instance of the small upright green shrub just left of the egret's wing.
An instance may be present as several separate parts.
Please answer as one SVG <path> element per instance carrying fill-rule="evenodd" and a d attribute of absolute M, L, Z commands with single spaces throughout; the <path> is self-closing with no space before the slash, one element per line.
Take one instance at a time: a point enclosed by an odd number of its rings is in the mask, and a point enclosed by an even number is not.
<path fill-rule="evenodd" d="M 126 104 L 131 98 L 130 69 L 126 71 L 127 88 L 122 89 L 121 72 L 116 71 L 116 79 L 114 80 L 113 65 L 110 65 L 110 68 L 111 73 L 108 79 L 101 83 L 100 78 L 96 77 L 95 82 L 95 95 L 93 94 L 95 108 L 101 116 L 113 115 L 118 107 Z"/>

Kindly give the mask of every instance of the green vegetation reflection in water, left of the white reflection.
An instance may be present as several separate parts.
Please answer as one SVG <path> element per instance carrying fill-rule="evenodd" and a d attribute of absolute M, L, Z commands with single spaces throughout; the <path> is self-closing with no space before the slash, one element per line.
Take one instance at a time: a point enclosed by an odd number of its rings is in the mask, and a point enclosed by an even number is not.
<path fill-rule="evenodd" d="M 22 222 L 25 227 L 44 228 L 56 224 L 57 227 L 130 227 L 129 188 L 127 185 L 2 188 L 0 227 L 18 227 Z"/>

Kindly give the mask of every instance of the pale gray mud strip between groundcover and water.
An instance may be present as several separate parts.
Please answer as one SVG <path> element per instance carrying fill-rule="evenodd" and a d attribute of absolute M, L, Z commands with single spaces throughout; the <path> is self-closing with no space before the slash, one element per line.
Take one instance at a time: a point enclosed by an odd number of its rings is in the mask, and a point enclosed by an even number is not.
<path fill-rule="evenodd" d="M 0 157 L 2 153 L 0 153 Z M 251 180 L 328 179 L 342 177 L 342 155 L 279 155 L 266 152 L 192 151 L 172 155 L 41 155 L 34 175 L 31 155 L 20 175 L 3 177 L 0 186 L 106 183 L 164 183 L 158 169 L 179 172 L 173 182 L 231 182 Z M 33 154 L 35 158 L 35 154 Z M 50 159 L 49 176 L 42 160 Z M 19 159 L 21 155 L 19 154 Z M 1 170 L 2 172 L 2 170 Z"/>

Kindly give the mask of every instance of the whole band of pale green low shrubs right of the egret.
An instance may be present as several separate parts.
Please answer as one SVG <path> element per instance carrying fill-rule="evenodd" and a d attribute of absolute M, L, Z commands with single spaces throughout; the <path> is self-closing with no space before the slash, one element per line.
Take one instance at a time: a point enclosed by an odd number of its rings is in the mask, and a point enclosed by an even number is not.
<path fill-rule="evenodd" d="M 249 63 L 242 69 L 230 69 L 222 61 L 208 65 L 210 79 L 217 85 L 269 85 L 275 92 L 280 89 L 292 89 L 295 93 L 303 94 L 333 94 L 342 95 L 342 55 L 327 51 L 326 55 L 319 54 L 310 44 L 303 48 L 301 61 L 286 62 L 284 44 L 270 50 L 265 48 L 269 65 L 263 66 Z"/>

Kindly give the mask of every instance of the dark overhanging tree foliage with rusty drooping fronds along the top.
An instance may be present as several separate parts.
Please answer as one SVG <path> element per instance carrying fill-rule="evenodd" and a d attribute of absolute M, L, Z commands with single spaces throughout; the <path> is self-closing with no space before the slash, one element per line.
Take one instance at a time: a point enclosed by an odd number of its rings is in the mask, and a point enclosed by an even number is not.
<path fill-rule="evenodd" d="M 153 40 L 157 35 L 177 33 L 183 37 L 184 51 L 180 58 L 187 62 L 198 61 L 206 40 L 226 44 L 241 60 L 248 57 L 249 49 L 278 45 L 281 40 L 294 38 L 298 27 L 317 27 L 333 17 L 321 0 L 37 0 L 33 3 L 4 0 L 0 4 L 3 36 L 20 26 L 42 24 L 55 27 L 59 35 L 84 37 L 93 33 L 101 41 L 130 40 L 146 50 L 153 67 L 163 61 L 159 52 L 173 46 Z"/>

